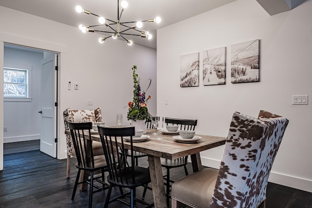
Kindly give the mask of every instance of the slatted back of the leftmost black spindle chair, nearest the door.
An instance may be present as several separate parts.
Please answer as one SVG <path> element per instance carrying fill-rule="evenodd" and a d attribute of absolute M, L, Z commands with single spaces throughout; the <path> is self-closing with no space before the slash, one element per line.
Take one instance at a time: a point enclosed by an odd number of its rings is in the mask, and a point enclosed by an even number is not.
<path fill-rule="evenodd" d="M 68 126 L 71 132 L 78 166 L 81 168 L 94 168 L 94 154 L 90 136 L 92 122 L 72 123 L 69 121 Z"/>

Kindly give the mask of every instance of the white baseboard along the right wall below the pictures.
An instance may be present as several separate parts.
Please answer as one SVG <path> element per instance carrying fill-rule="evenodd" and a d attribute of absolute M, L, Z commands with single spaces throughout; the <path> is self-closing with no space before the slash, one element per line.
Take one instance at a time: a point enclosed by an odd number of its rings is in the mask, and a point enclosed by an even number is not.
<path fill-rule="evenodd" d="M 219 169 L 220 160 L 215 160 L 207 157 L 200 157 L 203 166 Z M 271 171 L 269 182 L 312 192 L 312 181 L 308 179 L 298 178 L 290 175 Z"/>

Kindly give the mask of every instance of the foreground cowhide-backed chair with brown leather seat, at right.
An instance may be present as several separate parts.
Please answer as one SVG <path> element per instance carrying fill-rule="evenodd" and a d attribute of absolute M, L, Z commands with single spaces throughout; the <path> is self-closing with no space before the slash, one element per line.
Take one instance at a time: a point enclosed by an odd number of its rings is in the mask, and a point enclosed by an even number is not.
<path fill-rule="evenodd" d="M 258 119 L 234 113 L 220 169 L 205 168 L 177 180 L 172 208 L 265 207 L 268 177 L 288 119 L 260 111 Z"/>

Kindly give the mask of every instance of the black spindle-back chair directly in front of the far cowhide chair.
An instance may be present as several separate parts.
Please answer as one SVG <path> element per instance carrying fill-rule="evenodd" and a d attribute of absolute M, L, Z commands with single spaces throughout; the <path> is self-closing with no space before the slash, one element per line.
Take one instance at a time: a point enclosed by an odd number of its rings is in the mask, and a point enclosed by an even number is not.
<path fill-rule="evenodd" d="M 88 204 L 89 208 L 92 208 L 93 193 L 108 189 L 109 187 L 109 185 L 105 183 L 104 178 L 104 171 L 107 170 L 106 160 L 103 154 L 95 155 L 94 153 L 93 144 L 95 142 L 91 139 L 92 122 L 68 122 L 68 127 L 71 132 L 72 142 L 76 152 L 76 168 L 78 168 L 72 200 L 75 198 L 78 184 L 87 183 L 90 185 Z M 81 170 L 89 171 L 91 174 L 90 179 L 79 181 Z M 95 172 L 98 170 L 101 171 L 101 174 L 100 176 L 95 177 Z M 101 187 L 95 184 L 94 181 L 100 183 Z M 96 188 L 96 190 L 94 190 L 94 188 Z"/>

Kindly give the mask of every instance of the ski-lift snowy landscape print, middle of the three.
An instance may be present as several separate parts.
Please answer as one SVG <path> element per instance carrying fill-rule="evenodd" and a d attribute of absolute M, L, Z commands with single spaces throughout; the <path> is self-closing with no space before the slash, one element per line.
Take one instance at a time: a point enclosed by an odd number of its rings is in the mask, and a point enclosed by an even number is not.
<path fill-rule="evenodd" d="M 203 51 L 203 85 L 225 84 L 225 47 Z"/>

